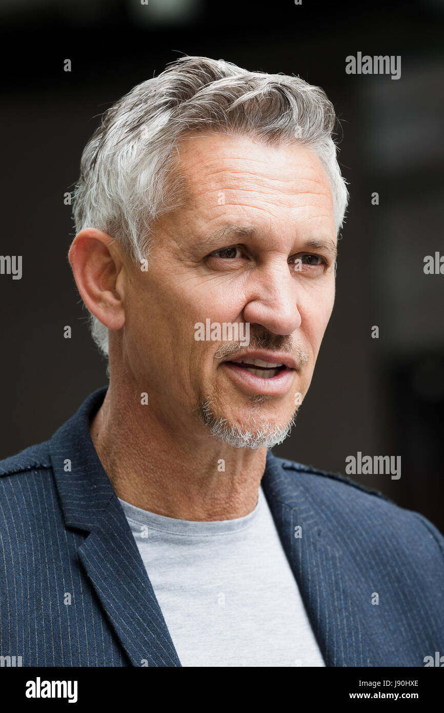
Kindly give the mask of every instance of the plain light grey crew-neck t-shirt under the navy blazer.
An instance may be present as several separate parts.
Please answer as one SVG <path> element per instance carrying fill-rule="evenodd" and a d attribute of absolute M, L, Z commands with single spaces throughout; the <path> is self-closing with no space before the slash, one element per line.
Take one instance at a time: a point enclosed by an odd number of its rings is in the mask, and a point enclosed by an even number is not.
<path fill-rule="evenodd" d="M 120 504 L 182 666 L 324 666 L 262 487 L 235 520 Z"/>

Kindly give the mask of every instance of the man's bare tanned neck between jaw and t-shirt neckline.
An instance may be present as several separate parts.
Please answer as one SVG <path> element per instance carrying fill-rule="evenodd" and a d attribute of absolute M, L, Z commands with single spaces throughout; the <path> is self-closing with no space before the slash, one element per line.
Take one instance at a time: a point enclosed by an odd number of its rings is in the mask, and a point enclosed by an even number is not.
<path fill-rule="evenodd" d="M 168 428 L 166 418 L 135 402 L 135 391 L 111 379 L 90 424 L 118 498 L 180 520 L 232 520 L 251 513 L 267 448 L 233 448 L 213 438 L 193 416 L 188 429 L 183 422 L 180 429 Z"/>

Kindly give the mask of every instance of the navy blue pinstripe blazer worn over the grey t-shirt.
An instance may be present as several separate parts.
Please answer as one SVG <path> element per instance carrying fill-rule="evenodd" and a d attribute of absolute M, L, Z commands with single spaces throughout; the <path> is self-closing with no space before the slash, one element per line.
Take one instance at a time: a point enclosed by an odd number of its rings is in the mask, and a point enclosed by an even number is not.
<path fill-rule="evenodd" d="M 89 434 L 105 391 L 0 463 L 0 656 L 23 666 L 181 665 Z M 444 654 L 434 525 L 271 451 L 262 486 L 327 666 L 419 667 Z"/>

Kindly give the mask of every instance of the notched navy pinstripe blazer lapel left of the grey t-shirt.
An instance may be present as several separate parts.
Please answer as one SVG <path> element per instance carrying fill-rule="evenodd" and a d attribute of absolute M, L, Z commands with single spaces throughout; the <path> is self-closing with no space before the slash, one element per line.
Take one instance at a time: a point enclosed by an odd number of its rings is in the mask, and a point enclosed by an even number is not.
<path fill-rule="evenodd" d="M 133 666 L 180 667 L 130 526 L 89 434 L 89 416 L 105 391 L 91 394 L 51 438 L 63 516 L 69 528 L 88 533 L 78 557 Z"/>

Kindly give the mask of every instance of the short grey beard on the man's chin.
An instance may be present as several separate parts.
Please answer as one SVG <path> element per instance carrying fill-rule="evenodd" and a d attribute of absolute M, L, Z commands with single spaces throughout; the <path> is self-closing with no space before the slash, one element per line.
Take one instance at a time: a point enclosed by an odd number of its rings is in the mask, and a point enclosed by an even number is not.
<path fill-rule="evenodd" d="M 260 403 L 265 399 L 259 396 L 259 399 L 253 400 Z M 262 418 L 259 418 L 257 423 L 253 413 L 247 428 L 237 425 L 229 426 L 227 419 L 215 416 L 209 398 L 199 405 L 198 413 L 200 419 L 210 429 L 211 435 L 215 438 L 220 438 L 225 443 L 228 443 L 229 446 L 233 446 L 233 448 L 252 448 L 252 450 L 257 450 L 257 448 L 278 446 L 289 436 L 291 427 L 294 426 L 296 421 L 297 409 L 291 416 L 289 423 L 284 426 L 270 425 L 267 419 Z"/>

